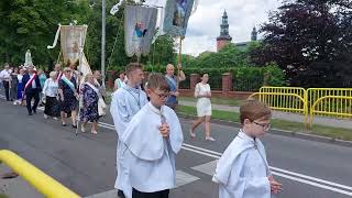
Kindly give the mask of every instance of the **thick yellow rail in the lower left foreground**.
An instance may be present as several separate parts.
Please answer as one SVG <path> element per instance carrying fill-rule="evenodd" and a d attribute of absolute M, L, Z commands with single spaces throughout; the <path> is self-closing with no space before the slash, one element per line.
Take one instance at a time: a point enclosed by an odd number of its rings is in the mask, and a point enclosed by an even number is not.
<path fill-rule="evenodd" d="M 0 162 L 7 164 L 13 172 L 29 182 L 36 190 L 48 198 L 78 198 L 79 196 L 15 153 L 0 150 Z"/>

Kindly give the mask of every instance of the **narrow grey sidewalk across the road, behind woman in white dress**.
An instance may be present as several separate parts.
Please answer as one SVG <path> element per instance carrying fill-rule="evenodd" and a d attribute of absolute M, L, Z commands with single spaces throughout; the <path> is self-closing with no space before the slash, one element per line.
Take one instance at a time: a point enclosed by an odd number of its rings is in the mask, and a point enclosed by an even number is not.
<path fill-rule="evenodd" d="M 178 105 L 196 107 L 196 102 L 185 101 L 185 100 L 179 100 Z M 240 112 L 239 107 L 222 106 L 222 105 L 211 105 L 211 107 L 213 110 L 219 110 L 219 111 Z M 305 122 L 304 120 L 305 117 L 301 114 L 280 112 L 280 111 L 273 111 L 273 119 L 300 122 L 300 123 Z M 340 119 L 332 119 L 332 118 L 314 117 L 312 122 L 319 125 L 352 129 L 352 120 L 340 120 Z"/>

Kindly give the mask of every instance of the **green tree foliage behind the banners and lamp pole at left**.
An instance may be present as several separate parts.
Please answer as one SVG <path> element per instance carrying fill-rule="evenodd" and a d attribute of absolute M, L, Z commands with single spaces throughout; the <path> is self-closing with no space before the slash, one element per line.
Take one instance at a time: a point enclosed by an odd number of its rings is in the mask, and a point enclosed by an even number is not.
<path fill-rule="evenodd" d="M 131 1 L 125 1 L 131 3 Z M 117 3 L 107 0 L 106 65 L 111 69 L 135 62 L 124 52 L 123 6 L 116 15 L 109 10 Z M 98 0 L 1 0 L 0 1 L 0 64 L 24 63 L 26 50 L 31 50 L 36 65 L 52 66 L 58 57 L 59 45 L 48 51 L 57 25 L 87 24 L 85 54 L 94 69 L 101 65 L 101 1 Z M 142 63 L 167 64 L 174 62 L 174 40 L 160 36 L 148 56 Z"/>

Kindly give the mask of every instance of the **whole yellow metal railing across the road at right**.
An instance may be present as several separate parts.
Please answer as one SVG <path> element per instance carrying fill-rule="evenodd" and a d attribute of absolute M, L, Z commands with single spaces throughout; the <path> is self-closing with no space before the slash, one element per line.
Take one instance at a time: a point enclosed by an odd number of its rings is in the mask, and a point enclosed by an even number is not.
<path fill-rule="evenodd" d="M 297 112 L 305 116 L 305 124 L 310 125 L 314 116 L 350 118 L 352 88 L 309 88 L 301 87 L 267 87 L 250 96 L 258 96 L 258 100 L 273 110 Z"/>

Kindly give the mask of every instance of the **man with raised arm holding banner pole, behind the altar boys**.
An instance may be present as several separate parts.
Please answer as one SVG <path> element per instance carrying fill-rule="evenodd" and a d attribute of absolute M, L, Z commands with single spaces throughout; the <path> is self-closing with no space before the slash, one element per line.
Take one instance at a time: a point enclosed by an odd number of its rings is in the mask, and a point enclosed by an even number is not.
<path fill-rule="evenodd" d="M 186 79 L 185 73 L 183 72 L 183 67 L 180 64 L 178 64 L 177 68 L 179 69 L 179 78 L 177 79 L 177 76 L 175 76 L 175 67 L 173 64 L 168 64 L 166 66 L 166 79 L 167 84 L 170 88 L 169 96 L 166 100 L 166 106 L 174 109 L 177 106 L 177 97 L 179 96 L 177 81 L 184 81 Z"/>

